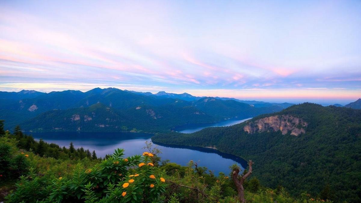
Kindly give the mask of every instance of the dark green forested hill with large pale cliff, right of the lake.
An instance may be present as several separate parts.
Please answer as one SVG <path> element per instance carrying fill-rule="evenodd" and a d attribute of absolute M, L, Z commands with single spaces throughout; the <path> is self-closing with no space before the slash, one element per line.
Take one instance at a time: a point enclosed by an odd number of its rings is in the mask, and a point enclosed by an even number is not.
<path fill-rule="evenodd" d="M 152 140 L 212 146 L 252 159 L 262 184 L 282 185 L 294 195 L 329 190 L 337 202 L 361 201 L 360 110 L 304 103 L 234 126 Z"/>

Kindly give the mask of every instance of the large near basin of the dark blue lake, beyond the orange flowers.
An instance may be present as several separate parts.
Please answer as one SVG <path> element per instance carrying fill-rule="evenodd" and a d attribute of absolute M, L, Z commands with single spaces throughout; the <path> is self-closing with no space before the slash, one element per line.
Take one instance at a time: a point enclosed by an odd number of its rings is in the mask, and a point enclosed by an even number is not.
<path fill-rule="evenodd" d="M 202 127 L 199 126 L 199 128 Z M 56 143 L 61 147 L 69 147 L 69 143 L 73 142 L 75 148 L 83 147 L 90 151 L 95 150 L 98 157 L 113 154 L 116 148 L 123 148 L 125 156 L 142 154 L 145 151 L 142 149 L 145 146 L 145 141 L 151 142 L 151 137 L 153 136 L 153 134 L 147 133 L 86 132 L 49 132 L 31 133 L 31 135 L 36 140 L 43 138 L 45 142 Z M 199 161 L 199 166 L 207 167 L 208 170 L 212 170 L 216 175 L 219 172 L 228 174 L 230 172 L 229 167 L 234 163 L 238 163 L 242 169 L 247 167 L 247 162 L 244 159 L 211 148 L 155 144 L 162 151 L 162 154 L 160 154 L 162 160 L 169 159 L 170 162 L 180 165 L 186 165 L 190 160 Z"/>

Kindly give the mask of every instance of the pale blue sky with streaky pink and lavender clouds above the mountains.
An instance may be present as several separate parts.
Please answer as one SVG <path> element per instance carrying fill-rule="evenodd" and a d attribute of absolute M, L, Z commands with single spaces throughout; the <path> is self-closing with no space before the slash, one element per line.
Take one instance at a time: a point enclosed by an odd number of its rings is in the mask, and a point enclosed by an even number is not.
<path fill-rule="evenodd" d="M 361 1 L 0 1 L 0 91 L 361 97 Z"/>

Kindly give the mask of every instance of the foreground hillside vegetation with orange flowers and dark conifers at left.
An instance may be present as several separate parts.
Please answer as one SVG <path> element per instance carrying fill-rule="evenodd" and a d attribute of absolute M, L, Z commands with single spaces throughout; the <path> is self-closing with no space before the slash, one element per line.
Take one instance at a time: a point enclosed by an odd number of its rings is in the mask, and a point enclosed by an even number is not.
<path fill-rule="evenodd" d="M 190 160 L 186 166 L 160 160 L 145 143 L 143 155 L 123 157 L 124 150 L 104 158 L 96 152 L 60 148 L 4 131 L 0 122 L 0 201 L 5 202 L 240 202 L 230 174 L 207 173 Z M 174 156 L 177 156 L 176 154 Z M 251 170 L 251 168 L 250 168 Z M 257 167 L 254 167 L 257 171 Z M 247 170 L 243 172 L 245 177 Z M 246 202 L 330 202 L 330 191 L 292 196 L 282 186 L 260 184 L 256 176 L 243 183 Z"/>

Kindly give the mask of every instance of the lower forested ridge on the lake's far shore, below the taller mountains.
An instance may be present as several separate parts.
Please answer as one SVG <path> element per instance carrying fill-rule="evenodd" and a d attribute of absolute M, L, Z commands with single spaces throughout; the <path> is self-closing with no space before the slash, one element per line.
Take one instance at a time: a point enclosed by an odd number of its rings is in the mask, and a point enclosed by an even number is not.
<path fill-rule="evenodd" d="M 187 122 L 214 122 L 214 117 L 198 109 L 174 105 L 140 105 L 119 110 L 102 103 L 90 107 L 52 110 L 21 124 L 25 131 L 119 132 L 142 130 L 152 133 L 168 131 Z"/>

